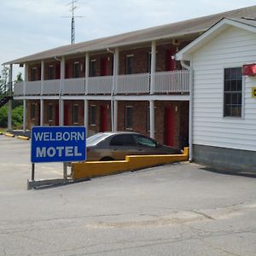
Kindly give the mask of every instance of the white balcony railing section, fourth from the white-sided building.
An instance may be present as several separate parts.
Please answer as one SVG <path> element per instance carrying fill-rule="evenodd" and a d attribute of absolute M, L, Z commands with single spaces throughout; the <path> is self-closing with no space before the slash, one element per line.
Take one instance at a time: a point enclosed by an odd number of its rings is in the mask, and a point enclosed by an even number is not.
<path fill-rule="evenodd" d="M 81 79 L 65 79 L 62 88 L 62 94 L 84 94 L 85 80 Z"/>

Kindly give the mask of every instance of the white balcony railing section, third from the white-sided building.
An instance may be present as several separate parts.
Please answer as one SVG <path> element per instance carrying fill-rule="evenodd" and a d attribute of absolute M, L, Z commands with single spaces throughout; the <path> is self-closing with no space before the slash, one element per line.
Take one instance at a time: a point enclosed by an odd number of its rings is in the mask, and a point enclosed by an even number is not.
<path fill-rule="evenodd" d="M 113 76 L 93 77 L 88 79 L 88 94 L 110 94 Z"/>

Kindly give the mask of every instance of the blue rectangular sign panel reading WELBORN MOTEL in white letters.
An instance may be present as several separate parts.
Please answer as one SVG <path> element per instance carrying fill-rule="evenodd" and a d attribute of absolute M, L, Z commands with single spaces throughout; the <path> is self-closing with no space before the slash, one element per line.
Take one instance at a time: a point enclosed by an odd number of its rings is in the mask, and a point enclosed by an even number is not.
<path fill-rule="evenodd" d="M 31 161 L 70 162 L 85 160 L 84 126 L 32 127 Z"/>

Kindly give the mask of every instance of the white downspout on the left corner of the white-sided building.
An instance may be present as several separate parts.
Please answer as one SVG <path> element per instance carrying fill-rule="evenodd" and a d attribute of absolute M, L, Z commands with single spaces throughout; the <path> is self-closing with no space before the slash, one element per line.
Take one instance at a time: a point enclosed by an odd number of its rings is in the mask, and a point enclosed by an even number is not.
<path fill-rule="evenodd" d="M 190 61 L 190 66 L 180 61 L 182 67 L 189 70 L 189 161 L 193 161 L 193 106 L 194 106 L 194 70 Z"/>

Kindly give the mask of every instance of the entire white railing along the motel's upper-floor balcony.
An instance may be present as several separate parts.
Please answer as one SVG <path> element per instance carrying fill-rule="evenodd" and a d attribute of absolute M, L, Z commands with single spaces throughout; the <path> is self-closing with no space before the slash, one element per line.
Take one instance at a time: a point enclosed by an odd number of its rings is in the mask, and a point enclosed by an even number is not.
<path fill-rule="evenodd" d="M 150 79 L 154 79 L 154 91 L 150 91 Z M 44 80 L 15 84 L 14 96 L 37 95 L 100 95 L 111 94 L 183 94 L 189 93 L 189 71 L 158 72 L 154 75 L 139 73 L 119 75 L 113 87 L 113 76 Z M 24 88 L 25 86 L 25 88 Z"/>

